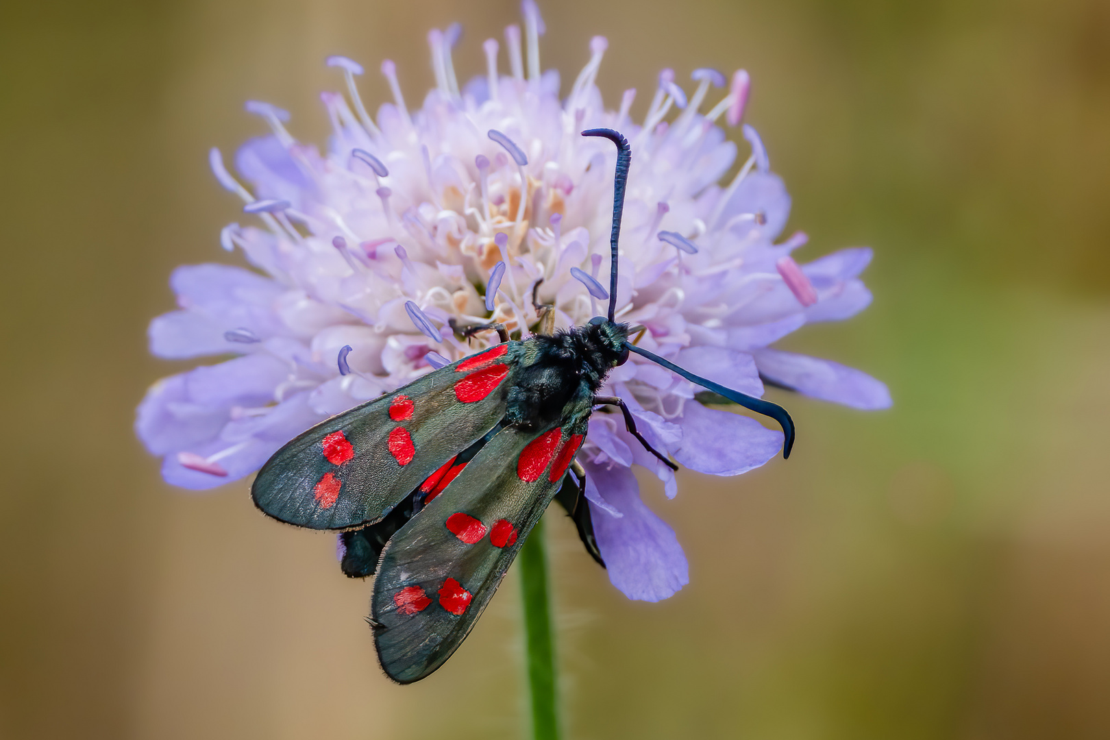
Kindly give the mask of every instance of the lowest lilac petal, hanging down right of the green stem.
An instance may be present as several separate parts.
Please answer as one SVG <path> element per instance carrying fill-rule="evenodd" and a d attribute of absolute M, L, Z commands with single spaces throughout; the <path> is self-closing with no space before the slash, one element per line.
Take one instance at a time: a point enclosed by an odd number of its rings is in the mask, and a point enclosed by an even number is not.
<path fill-rule="evenodd" d="M 624 515 L 603 516 L 591 503 L 597 547 L 617 590 L 629 599 L 662 601 L 688 584 L 686 555 L 675 530 L 640 500 L 632 470 L 587 464 L 586 472 L 605 500 Z"/>

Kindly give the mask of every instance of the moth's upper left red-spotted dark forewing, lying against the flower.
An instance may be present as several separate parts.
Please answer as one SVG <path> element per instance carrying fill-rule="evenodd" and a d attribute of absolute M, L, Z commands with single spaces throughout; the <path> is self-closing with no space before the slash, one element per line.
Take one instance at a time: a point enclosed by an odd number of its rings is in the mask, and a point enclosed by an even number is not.
<path fill-rule="evenodd" d="M 317 424 L 262 466 L 254 504 L 313 529 L 381 519 L 501 420 L 519 354 L 498 344 Z"/>

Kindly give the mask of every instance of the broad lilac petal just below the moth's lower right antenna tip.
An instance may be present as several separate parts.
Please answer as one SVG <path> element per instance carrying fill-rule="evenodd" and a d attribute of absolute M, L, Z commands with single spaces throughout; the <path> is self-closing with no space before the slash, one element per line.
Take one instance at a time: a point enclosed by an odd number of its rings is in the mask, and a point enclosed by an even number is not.
<path fill-rule="evenodd" d="M 748 416 L 706 408 L 687 401 L 683 406 L 683 444 L 675 459 L 710 475 L 739 475 L 757 468 L 783 447 L 783 433 Z"/>

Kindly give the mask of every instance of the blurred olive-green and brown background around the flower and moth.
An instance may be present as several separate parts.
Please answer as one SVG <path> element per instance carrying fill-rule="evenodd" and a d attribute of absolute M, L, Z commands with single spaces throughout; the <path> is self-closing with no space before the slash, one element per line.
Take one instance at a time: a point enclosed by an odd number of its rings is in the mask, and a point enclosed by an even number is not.
<path fill-rule="evenodd" d="M 680 474 L 688 587 L 630 602 L 558 517 L 568 738 L 1110 737 L 1110 4 L 1106 0 L 562 0 L 564 92 L 609 39 L 610 107 L 663 67 L 754 78 L 800 255 L 870 244 L 875 304 L 789 346 L 889 383 L 862 414 L 788 399 L 789 463 Z M 0 7 L 3 331 L 0 736 L 516 738 L 511 574 L 426 681 L 380 672 L 370 586 L 243 481 L 174 490 L 134 439 L 179 263 L 238 206 L 206 151 L 262 99 L 320 141 L 345 53 L 432 83 L 511 0 L 85 0 Z M 382 100 L 384 81 L 362 81 Z M 640 95 L 640 114 L 646 105 Z M 735 132 L 734 132 L 735 133 Z M 784 396 L 775 396 L 783 401 Z"/>

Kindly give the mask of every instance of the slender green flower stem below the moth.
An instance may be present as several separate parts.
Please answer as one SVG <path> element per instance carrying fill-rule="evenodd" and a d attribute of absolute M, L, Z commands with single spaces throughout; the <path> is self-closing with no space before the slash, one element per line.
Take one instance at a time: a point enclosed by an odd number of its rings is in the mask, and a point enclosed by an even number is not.
<path fill-rule="evenodd" d="M 533 527 L 521 549 L 521 591 L 527 642 L 532 733 L 535 740 L 558 740 L 555 716 L 555 649 L 552 645 L 551 599 L 547 596 L 547 553 L 544 521 Z"/>

